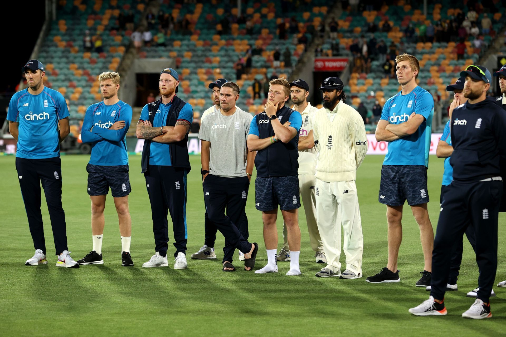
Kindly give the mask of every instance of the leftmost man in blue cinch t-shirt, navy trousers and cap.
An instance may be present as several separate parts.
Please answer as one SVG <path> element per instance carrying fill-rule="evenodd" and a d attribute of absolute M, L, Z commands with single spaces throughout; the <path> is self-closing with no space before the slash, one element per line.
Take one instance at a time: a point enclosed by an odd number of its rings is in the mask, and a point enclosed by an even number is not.
<path fill-rule="evenodd" d="M 68 251 L 62 208 L 60 143 L 70 133 L 67 103 L 60 92 L 44 86 L 46 71 L 38 60 L 28 61 L 21 71 L 28 88 L 13 95 L 7 120 L 9 131 L 17 140 L 16 170 L 35 248 L 35 255 L 25 264 L 48 263 L 40 214 L 42 184 L 58 256 L 56 266 L 78 268 Z"/>

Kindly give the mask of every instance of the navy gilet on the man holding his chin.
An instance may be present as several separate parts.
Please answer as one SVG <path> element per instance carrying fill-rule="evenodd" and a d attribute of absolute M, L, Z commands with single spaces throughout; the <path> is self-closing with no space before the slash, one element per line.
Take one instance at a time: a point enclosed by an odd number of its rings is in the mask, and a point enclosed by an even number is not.
<path fill-rule="evenodd" d="M 290 118 L 290 115 L 296 112 L 288 107 L 278 110 L 276 115 L 281 118 L 279 121 L 284 124 Z M 298 112 L 296 112 L 298 113 Z M 254 117 L 258 125 L 260 139 L 274 136 L 274 130 L 265 112 Z M 257 177 L 286 177 L 299 175 L 299 132 L 289 142 L 275 142 L 267 148 L 257 152 L 255 157 L 255 166 L 257 167 Z"/>

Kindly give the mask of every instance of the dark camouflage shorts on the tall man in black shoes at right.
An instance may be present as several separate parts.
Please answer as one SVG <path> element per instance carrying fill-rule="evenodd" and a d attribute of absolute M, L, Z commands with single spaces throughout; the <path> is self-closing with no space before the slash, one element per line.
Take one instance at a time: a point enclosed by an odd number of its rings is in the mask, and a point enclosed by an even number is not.
<path fill-rule="evenodd" d="M 427 168 L 423 165 L 383 165 L 378 201 L 388 206 L 429 202 Z"/>

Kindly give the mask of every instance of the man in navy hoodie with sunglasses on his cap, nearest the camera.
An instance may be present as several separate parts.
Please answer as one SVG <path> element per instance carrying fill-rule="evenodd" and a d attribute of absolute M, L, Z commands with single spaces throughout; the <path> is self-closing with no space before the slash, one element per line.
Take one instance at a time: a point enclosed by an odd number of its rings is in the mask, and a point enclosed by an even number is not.
<path fill-rule="evenodd" d="M 471 65 L 462 71 L 466 77 L 464 96 L 468 102 L 453 110 L 450 163 L 453 180 L 441 204 L 432 255 L 431 296 L 409 309 L 413 315 L 446 315 L 444 295 L 450 260 L 448 255 L 468 226 L 476 238 L 478 278 L 477 299 L 464 313 L 465 318 L 489 318 L 489 298 L 497 269 L 497 221 L 502 177 L 500 160 L 506 156 L 506 114 L 487 98 L 492 76 L 483 66 Z"/>

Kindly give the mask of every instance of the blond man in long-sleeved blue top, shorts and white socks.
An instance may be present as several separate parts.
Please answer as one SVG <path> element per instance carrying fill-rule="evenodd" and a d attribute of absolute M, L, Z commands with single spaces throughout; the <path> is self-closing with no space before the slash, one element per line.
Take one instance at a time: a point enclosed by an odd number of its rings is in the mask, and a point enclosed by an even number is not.
<path fill-rule="evenodd" d="M 121 237 L 121 265 L 133 266 L 130 255 L 132 220 L 128 206 L 130 187 L 128 153 L 125 135 L 132 121 L 132 108 L 118 99 L 119 74 L 100 74 L 100 90 L 104 100 L 88 107 L 82 123 L 83 143 L 92 143 L 88 171 L 88 194 L 92 201 L 92 251 L 79 264 L 103 264 L 105 199 L 111 194 L 118 214 Z"/>

